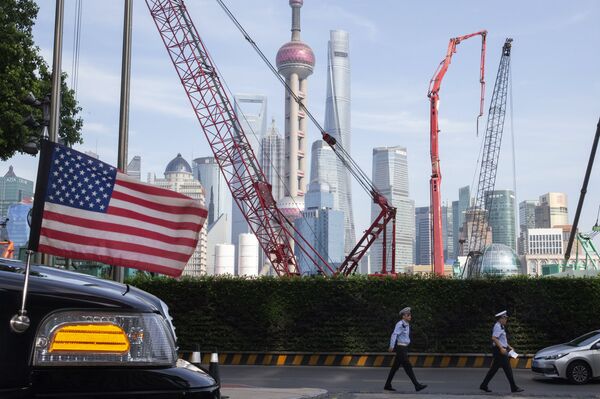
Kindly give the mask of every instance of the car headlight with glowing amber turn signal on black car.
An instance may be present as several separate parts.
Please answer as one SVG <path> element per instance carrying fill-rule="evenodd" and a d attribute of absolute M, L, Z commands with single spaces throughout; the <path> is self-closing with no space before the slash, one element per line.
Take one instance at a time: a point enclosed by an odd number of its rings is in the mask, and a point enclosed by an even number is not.
<path fill-rule="evenodd" d="M 33 365 L 174 365 L 177 354 L 169 330 L 155 313 L 55 312 L 37 331 Z"/>

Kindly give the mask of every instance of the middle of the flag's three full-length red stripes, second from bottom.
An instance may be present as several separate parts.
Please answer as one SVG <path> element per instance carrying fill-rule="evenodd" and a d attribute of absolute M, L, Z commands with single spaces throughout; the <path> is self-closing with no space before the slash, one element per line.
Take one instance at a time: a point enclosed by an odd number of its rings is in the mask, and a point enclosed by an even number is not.
<path fill-rule="evenodd" d="M 94 247 L 108 248 L 115 251 L 139 252 L 146 255 L 159 256 L 161 258 L 172 259 L 187 263 L 193 248 L 190 249 L 190 254 L 181 254 L 172 251 L 166 251 L 147 245 L 133 244 L 130 242 L 121 242 L 116 240 L 108 240 L 98 237 L 87 237 L 78 234 L 65 233 L 62 231 L 50 230 L 43 227 L 40 230 L 40 236 L 48 237 L 49 239 L 68 241 L 79 245 L 90 245 Z"/>

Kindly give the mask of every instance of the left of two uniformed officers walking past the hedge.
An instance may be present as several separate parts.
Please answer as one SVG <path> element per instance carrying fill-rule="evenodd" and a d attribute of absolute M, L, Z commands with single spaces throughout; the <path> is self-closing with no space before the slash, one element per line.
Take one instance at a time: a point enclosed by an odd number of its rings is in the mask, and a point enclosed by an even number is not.
<path fill-rule="evenodd" d="M 404 367 L 406 375 L 408 375 L 418 392 L 422 389 L 425 389 L 427 385 L 420 384 L 417 381 L 415 373 L 412 370 L 412 365 L 408 360 L 408 345 L 410 344 L 410 321 L 412 320 L 410 308 L 406 307 L 402 309 L 400 311 L 400 317 L 401 320 L 396 323 L 396 327 L 394 328 L 394 332 L 390 338 L 390 347 L 388 349 L 389 352 L 393 352 L 395 350 L 396 357 L 394 358 L 394 364 L 392 364 L 392 368 L 390 369 L 390 373 L 388 374 L 388 378 L 383 389 L 386 391 L 395 391 L 395 389 L 392 388 L 392 379 L 394 378 L 396 371 L 398 371 L 398 368 L 402 366 Z"/>

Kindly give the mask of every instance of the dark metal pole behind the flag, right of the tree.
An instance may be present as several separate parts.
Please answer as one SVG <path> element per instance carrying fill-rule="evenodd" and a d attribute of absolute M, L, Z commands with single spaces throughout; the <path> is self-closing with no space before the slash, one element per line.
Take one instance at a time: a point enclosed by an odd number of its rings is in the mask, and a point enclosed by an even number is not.
<path fill-rule="evenodd" d="M 119 154 L 117 168 L 127 173 L 127 147 L 129 139 L 129 92 L 131 76 L 131 14 L 133 0 L 125 0 L 123 19 L 123 56 L 121 64 L 121 107 L 119 115 Z M 123 282 L 125 269 L 113 266 L 113 279 Z"/>

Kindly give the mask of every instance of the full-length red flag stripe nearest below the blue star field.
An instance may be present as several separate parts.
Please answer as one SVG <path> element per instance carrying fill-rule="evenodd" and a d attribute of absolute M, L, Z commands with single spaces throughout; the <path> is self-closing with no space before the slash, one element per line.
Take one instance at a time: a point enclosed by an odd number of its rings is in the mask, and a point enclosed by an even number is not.
<path fill-rule="evenodd" d="M 84 218 L 79 218 L 75 216 L 69 216 L 62 213 L 56 213 L 51 211 L 44 211 L 44 220 L 54 220 L 57 222 L 70 224 L 73 226 L 86 227 L 90 229 L 96 229 L 100 231 L 108 231 L 113 233 L 121 233 L 121 234 L 129 234 L 132 236 L 138 236 L 143 238 L 149 238 L 151 240 L 158 240 L 165 244 L 174 244 L 174 245 L 185 245 L 191 248 L 195 248 L 198 240 L 193 240 L 191 238 L 177 238 L 165 234 L 158 233 L 156 231 L 150 231 L 145 229 L 140 229 L 137 227 L 130 227 L 122 224 L 109 223 L 109 222 L 99 222 Z"/>

